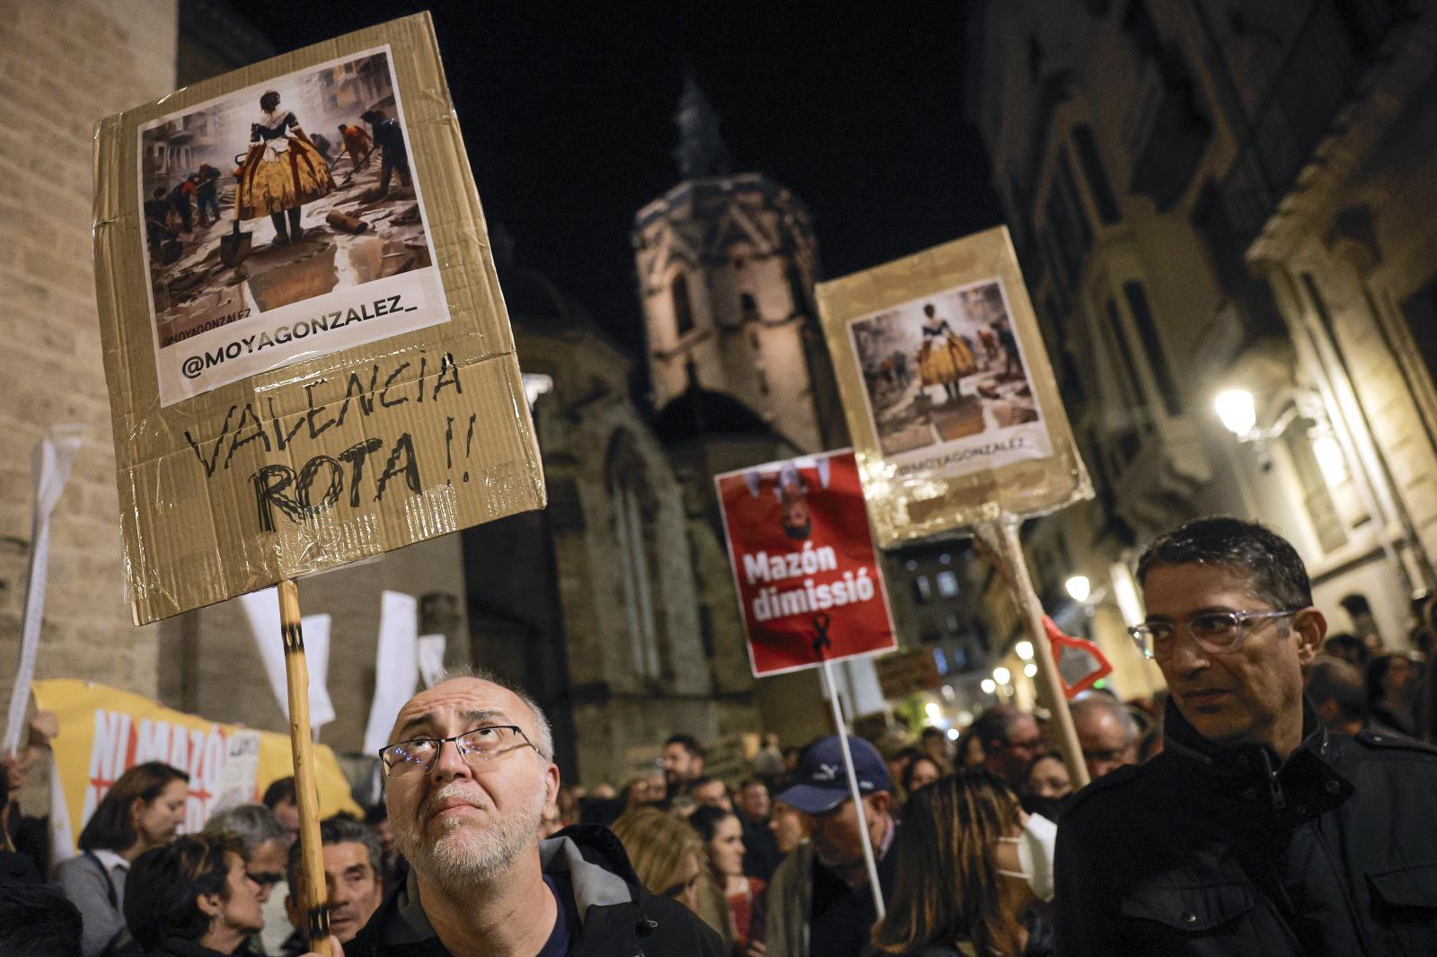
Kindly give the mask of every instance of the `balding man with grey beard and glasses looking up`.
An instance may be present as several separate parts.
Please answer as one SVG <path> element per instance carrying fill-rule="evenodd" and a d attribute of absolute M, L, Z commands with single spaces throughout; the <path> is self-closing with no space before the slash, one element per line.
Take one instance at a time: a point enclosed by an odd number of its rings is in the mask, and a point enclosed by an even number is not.
<path fill-rule="evenodd" d="M 549 721 L 522 691 L 490 675 L 440 681 L 399 708 L 379 760 L 410 872 L 348 957 L 720 953 L 688 908 L 639 885 L 611 832 L 539 839 L 559 767 Z"/>

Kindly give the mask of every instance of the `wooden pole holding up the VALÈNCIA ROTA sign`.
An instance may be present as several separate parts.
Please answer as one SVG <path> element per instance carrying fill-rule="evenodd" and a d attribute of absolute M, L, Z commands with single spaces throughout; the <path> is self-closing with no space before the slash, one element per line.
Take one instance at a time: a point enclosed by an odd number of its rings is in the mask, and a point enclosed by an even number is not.
<path fill-rule="evenodd" d="M 277 591 L 285 674 L 289 678 L 289 741 L 295 756 L 299 848 L 305 871 L 299 900 L 308 915 L 309 948 L 329 957 L 329 901 L 325 859 L 319 851 L 319 785 L 315 782 L 315 749 L 309 730 L 309 667 L 305 662 L 305 635 L 299 627 L 299 585 L 286 578 Z"/>

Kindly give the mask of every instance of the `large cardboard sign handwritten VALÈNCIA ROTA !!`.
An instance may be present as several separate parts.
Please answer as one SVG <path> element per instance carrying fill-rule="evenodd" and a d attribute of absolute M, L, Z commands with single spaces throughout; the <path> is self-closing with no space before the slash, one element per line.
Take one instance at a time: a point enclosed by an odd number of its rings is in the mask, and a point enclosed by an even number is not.
<path fill-rule="evenodd" d="M 95 181 L 137 624 L 543 506 L 427 14 L 109 116 Z"/>

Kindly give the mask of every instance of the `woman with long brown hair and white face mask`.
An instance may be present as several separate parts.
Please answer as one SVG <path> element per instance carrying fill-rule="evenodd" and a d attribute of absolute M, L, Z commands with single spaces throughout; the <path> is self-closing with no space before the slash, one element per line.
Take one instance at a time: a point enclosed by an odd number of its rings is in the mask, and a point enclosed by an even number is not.
<path fill-rule="evenodd" d="M 987 772 L 941 777 L 904 806 L 898 877 L 874 954 L 1020 957 L 1023 915 L 1038 900 L 1020 859 L 1026 815 Z M 1050 864 L 1050 861 L 1048 862 Z"/>

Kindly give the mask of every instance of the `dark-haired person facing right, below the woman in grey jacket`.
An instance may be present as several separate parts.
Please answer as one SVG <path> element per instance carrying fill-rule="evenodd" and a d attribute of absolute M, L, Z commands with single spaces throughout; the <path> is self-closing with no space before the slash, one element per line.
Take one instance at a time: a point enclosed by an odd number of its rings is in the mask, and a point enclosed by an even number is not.
<path fill-rule="evenodd" d="M 263 930 L 263 885 L 246 865 L 244 839 L 227 832 L 139 855 L 125 879 L 125 921 L 147 957 L 228 957 Z"/>

